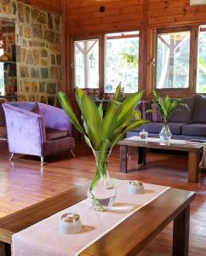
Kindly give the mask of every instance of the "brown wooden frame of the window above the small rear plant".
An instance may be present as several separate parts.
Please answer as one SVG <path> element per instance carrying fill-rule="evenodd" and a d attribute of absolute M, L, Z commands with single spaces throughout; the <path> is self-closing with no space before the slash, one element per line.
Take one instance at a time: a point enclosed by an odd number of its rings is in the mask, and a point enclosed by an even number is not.
<path fill-rule="evenodd" d="M 180 26 L 180 27 L 164 27 L 153 29 L 152 40 L 152 89 L 162 94 L 192 94 L 196 93 L 196 76 L 197 76 L 197 28 L 198 26 Z M 170 32 L 191 32 L 190 38 L 190 58 L 189 58 L 189 86 L 188 88 L 157 88 L 157 35 L 160 33 Z M 195 54 L 196 53 L 196 54 Z"/>

